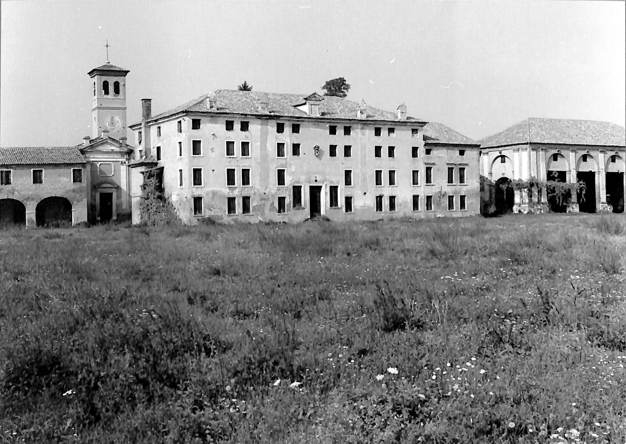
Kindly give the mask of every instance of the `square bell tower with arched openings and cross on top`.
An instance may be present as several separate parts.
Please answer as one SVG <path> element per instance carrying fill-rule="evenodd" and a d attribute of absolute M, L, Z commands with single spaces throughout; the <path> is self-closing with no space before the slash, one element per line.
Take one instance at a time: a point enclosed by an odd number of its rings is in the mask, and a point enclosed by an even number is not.
<path fill-rule="evenodd" d="M 102 131 L 120 140 L 126 137 L 126 74 L 128 69 L 120 68 L 107 61 L 87 73 L 93 81 L 93 101 L 91 104 L 91 135 L 97 138 Z"/>

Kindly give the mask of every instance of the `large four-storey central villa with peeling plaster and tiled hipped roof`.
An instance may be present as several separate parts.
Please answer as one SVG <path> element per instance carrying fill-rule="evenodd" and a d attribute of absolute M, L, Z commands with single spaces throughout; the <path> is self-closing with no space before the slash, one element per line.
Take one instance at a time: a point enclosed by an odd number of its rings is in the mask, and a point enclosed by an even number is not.
<path fill-rule="evenodd" d="M 151 115 L 131 162 L 159 169 L 184 223 L 464 216 L 480 210 L 479 145 L 439 123 L 336 96 L 219 89 Z"/>

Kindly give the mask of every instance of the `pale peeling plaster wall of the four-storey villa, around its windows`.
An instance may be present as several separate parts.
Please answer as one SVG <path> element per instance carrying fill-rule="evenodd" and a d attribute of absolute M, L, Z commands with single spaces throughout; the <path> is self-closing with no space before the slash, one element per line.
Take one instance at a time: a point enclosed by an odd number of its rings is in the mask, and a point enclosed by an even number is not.
<path fill-rule="evenodd" d="M 192 129 L 192 118 L 201 119 L 200 129 Z M 182 121 L 178 133 L 177 122 Z M 225 121 L 234 121 L 233 131 L 227 131 Z M 240 131 L 240 122 L 248 121 L 249 130 Z M 277 133 L 277 123 L 284 123 L 284 133 Z M 300 124 L 300 133 L 292 133 L 292 123 Z M 329 125 L 337 126 L 337 134 L 329 134 Z M 160 136 L 156 128 L 160 126 Z M 344 126 L 351 134 L 344 135 Z M 374 136 L 374 128 L 381 136 Z M 387 128 L 394 128 L 392 136 Z M 411 129 L 418 129 L 414 136 Z M 138 131 L 135 130 L 135 133 Z M 310 216 L 310 186 L 322 186 L 322 214 L 335 220 L 380 219 L 436 215 L 464 216 L 480 211 L 480 182 L 478 149 L 465 146 L 429 146 L 430 156 L 424 156 L 422 126 L 410 121 L 372 123 L 366 121 L 324 121 L 322 119 L 278 119 L 258 116 L 193 115 L 179 116 L 151 124 L 151 151 L 161 146 L 163 182 L 183 223 L 196 223 L 210 216 L 220 221 L 287 221 L 297 222 Z M 200 156 L 192 155 L 193 140 L 202 144 Z M 226 155 L 227 141 L 235 146 L 235 156 Z M 241 156 L 242 141 L 249 141 L 250 156 Z M 182 156 L 178 156 L 178 143 Z M 285 157 L 277 156 L 277 143 L 285 144 Z M 292 155 L 292 144 L 300 143 L 300 156 Z M 337 156 L 330 156 L 330 146 L 337 145 Z M 316 156 L 314 147 L 319 146 Z M 344 146 L 351 145 L 351 156 L 344 156 Z M 382 157 L 374 157 L 374 146 L 382 146 Z M 394 158 L 388 147 L 395 146 Z M 417 146 L 418 158 L 412 158 L 411 148 Z M 465 149 L 459 156 L 458 150 Z M 424 162 L 432 163 L 433 185 L 426 185 Z M 447 168 L 455 168 L 455 184 L 447 184 Z M 466 168 L 466 184 L 458 184 L 458 167 Z M 202 186 L 193 186 L 193 168 L 202 168 Z M 235 169 L 235 186 L 227 186 L 227 169 Z M 251 186 L 242 186 L 242 168 L 250 169 Z M 277 169 L 285 169 L 285 186 L 277 184 Z M 352 185 L 346 185 L 344 174 L 352 170 Z M 375 186 L 374 171 L 383 169 L 384 186 Z M 388 170 L 396 170 L 396 185 L 389 186 Z M 412 171 L 419 170 L 419 185 L 412 184 Z M 179 185 L 179 170 L 183 184 Z M 303 208 L 292 208 L 292 186 L 302 186 Z M 330 186 L 339 186 L 339 207 L 329 208 Z M 134 188 L 133 184 L 133 188 Z M 135 193 L 133 193 L 135 194 Z M 384 211 L 375 211 L 376 196 L 384 196 Z M 418 194 L 419 211 L 413 211 L 413 195 Z M 426 211 L 425 196 L 433 195 L 433 211 Z M 455 196 L 455 208 L 448 211 L 448 194 Z M 466 196 L 466 210 L 459 211 L 459 197 Z M 389 196 L 396 196 L 397 211 L 388 211 Z M 193 197 L 203 198 L 202 215 L 193 215 Z M 242 196 L 251 196 L 251 214 L 242 214 Z M 286 198 L 286 211 L 278 213 L 278 198 Z M 352 197 L 353 213 L 345 212 L 345 198 Z M 227 198 L 234 197 L 237 214 L 227 214 Z"/>

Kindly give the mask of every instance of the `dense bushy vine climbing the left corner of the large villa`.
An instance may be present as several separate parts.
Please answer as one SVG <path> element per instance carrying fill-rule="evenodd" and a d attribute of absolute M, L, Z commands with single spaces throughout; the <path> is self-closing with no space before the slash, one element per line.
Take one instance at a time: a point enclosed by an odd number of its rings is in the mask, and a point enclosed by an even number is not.
<path fill-rule="evenodd" d="M 163 189 L 163 168 L 144 171 L 139 204 L 141 223 L 151 226 L 180 223 L 172 202 Z"/>

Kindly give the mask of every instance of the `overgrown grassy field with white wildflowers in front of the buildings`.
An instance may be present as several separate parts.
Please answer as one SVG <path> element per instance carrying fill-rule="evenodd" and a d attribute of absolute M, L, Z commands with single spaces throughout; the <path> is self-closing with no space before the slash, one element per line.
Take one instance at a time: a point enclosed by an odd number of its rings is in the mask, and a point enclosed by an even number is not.
<path fill-rule="evenodd" d="M 0 441 L 624 443 L 623 217 L 0 232 Z"/>

